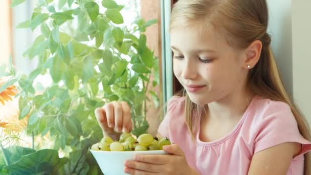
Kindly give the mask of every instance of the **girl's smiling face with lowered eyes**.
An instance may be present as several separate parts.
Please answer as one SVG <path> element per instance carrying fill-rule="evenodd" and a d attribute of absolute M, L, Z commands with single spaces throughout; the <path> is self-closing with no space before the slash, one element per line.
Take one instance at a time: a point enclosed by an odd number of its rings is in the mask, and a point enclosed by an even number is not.
<path fill-rule="evenodd" d="M 171 48 L 174 74 L 195 104 L 245 91 L 245 54 L 230 47 L 215 29 L 200 32 L 195 26 L 173 28 Z"/>

